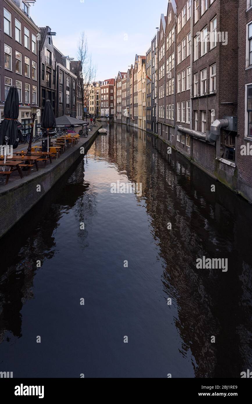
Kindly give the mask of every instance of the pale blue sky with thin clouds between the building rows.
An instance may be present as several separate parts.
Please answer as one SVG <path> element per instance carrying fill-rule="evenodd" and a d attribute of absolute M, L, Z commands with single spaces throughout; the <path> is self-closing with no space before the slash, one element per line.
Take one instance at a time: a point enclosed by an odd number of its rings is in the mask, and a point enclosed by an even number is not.
<path fill-rule="evenodd" d="M 97 65 L 95 79 L 103 81 L 127 72 L 136 53 L 145 55 L 167 6 L 168 0 L 36 0 L 30 15 L 39 27 L 56 32 L 53 44 L 75 59 L 84 31 Z"/>

